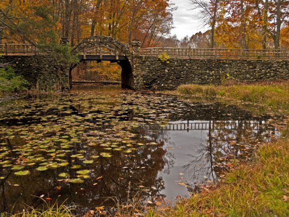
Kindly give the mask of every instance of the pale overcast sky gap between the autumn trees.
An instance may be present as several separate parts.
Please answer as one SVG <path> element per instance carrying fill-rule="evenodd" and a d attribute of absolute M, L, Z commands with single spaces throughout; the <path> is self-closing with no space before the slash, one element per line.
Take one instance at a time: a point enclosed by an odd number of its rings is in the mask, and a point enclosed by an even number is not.
<path fill-rule="evenodd" d="M 177 6 L 177 10 L 173 12 L 174 27 L 171 34 L 176 34 L 178 39 L 188 35 L 191 36 L 199 31 L 206 31 L 208 28 L 203 26 L 203 23 L 198 20 L 197 10 L 189 10 L 192 8 L 189 0 L 171 0 Z"/>

